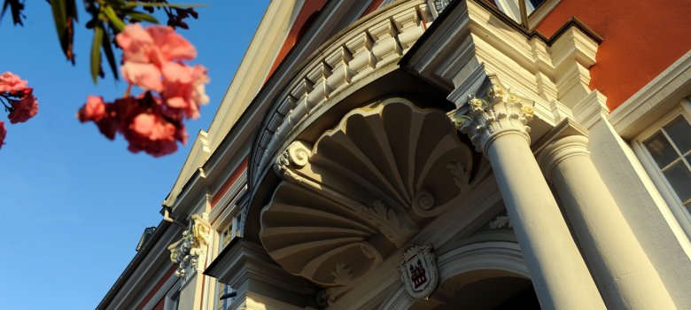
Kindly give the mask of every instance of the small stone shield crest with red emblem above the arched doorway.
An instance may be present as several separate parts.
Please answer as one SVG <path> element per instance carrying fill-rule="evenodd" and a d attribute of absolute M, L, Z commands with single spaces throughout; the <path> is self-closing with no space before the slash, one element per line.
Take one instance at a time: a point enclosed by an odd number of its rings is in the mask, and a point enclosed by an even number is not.
<path fill-rule="evenodd" d="M 429 298 L 439 283 L 437 258 L 431 245 L 409 247 L 400 260 L 399 271 L 408 295 L 415 299 Z"/>

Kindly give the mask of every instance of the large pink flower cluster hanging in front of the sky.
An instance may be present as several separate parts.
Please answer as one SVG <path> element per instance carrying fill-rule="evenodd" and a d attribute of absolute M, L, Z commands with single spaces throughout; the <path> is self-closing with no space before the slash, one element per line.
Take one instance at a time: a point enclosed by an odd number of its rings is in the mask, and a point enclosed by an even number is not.
<path fill-rule="evenodd" d="M 101 133 L 113 139 L 120 133 L 129 151 L 162 156 L 185 143 L 182 120 L 199 117 L 199 106 L 208 102 L 206 68 L 183 61 L 197 56 L 197 50 L 172 27 L 143 28 L 132 24 L 115 37 L 122 49 L 121 72 L 126 81 L 144 92 L 105 103 L 89 97 L 77 116 L 93 121 Z"/>

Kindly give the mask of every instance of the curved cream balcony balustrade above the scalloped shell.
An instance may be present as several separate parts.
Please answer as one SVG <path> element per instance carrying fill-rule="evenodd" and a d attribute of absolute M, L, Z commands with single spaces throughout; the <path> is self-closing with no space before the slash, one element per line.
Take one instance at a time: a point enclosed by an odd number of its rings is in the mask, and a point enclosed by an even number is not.
<path fill-rule="evenodd" d="M 260 177 L 278 151 L 301 128 L 328 109 L 328 102 L 352 93 L 392 66 L 423 34 L 432 19 L 425 0 L 400 1 L 368 16 L 325 43 L 276 98 L 252 151 L 252 175 Z M 296 132 L 297 131 L 297 132 Z M 256 180 L 254 180 L 256 181 Z"/>

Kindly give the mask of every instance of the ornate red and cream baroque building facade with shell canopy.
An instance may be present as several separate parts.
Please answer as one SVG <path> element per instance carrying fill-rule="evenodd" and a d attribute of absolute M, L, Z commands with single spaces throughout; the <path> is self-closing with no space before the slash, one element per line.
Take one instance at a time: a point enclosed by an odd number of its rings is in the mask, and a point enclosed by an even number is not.
<path fill-rule="evenodd" d="M 691 5 L 274 0 L 98 309 L 689 309 Z"/>

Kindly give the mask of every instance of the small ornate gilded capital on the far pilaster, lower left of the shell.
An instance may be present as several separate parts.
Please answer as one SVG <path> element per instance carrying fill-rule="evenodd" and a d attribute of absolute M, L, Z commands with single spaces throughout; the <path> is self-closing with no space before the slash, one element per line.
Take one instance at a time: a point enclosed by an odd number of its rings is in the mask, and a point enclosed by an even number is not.
<path fill-rule="evenodd" d="M 206 213 L 202 216 L 193 214 L 188 229 L 182 231 L 182 239 L 168 246 L 170 260 L 178 265 L 175 276 L 181 278 L 183 283 L 205 267 L 209 232 Z"/>

